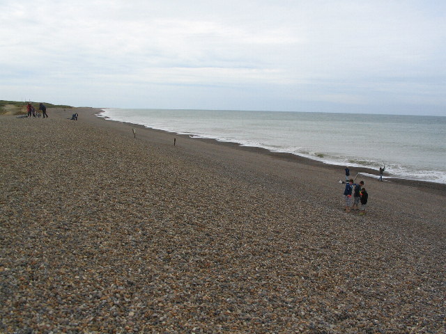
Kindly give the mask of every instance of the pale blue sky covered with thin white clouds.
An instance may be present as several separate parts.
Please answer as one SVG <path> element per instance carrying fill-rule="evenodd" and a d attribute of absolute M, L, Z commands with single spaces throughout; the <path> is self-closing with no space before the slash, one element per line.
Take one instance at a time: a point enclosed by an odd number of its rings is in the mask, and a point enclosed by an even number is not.
<path fill-rule="evenodd" d="M 446 116 L 446 1 L 0 0 L 0 100 Z"/>

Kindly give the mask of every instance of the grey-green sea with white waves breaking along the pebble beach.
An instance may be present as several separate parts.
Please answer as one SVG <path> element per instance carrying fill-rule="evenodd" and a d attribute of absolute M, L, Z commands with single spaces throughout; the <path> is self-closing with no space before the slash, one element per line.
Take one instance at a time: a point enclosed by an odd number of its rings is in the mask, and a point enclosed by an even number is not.
<path fill-rule="evenodd" d="M 387 177 L 446 184 L 446 117 L 185 109 L 103 109 L 98 116 L 192 138 L 286 152 Z"/>

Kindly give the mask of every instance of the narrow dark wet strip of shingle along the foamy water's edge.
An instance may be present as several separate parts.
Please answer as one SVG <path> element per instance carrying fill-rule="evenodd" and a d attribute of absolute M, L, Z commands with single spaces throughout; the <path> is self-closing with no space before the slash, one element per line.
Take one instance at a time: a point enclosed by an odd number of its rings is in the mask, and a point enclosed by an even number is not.
<path fill-rule="evenodd" d="M 121 124 L 126 124 L 126 125 L 136 128 L 136 129 L 146 129 L 146 130 L 153 131 L 153 132 L 171 134 L 174 136 L 178 136 L 179 138 L 188 138 L 188 139 L 192 139 L 194 141 L 202 141 L 204 143 L 211 143 L 213 145 L 224 145 L 227 148 L 233 148 L 236 150 L 245 150 L 245 151 L 254 152 L 257 154 L 266 154 L 266 155 L 273 157 L 275 159 L 281 159 L 281 160 L 289 161 L 289 162 L 297 162 L 300 164 L 305 164 L 307 166 L 318 166 L 321 168 L 328 168 L 330 170 L 336 170 L 336 171 L 338 171 L 339 168 L 344 169 L 344 167 L 342 165 L 328 164 L 328 163 L 313 160 L 313 159 L 310 159 L 307 157 L 301 157 L 299 155 L 292 154 L 292 153 L 272 152 L 266 148 L 257 148 L 254 146 L 243 146 L 243 145 L 240 145 L 239 143 L 217 141 L 216 139 L 213 139 L 213 138 L 193 138 L 188 134 L 177 134 L 176 132 L 169 132 L 169 131 L 165 131 L 165 130 L 161 130 L 161 129 L 153 129 L 151 127 L 146 127 L 144 125 L 134 124 L 131 122 L 121 122 L 121 121 L 117 121 L 117 120 L 112 120 L 112 119 L 104 117 L 104 116 L 98 116 L 98 114 L 104 112 L 103 109 L 94 108 L 93 110 L 98 111 L 98 113 L 93 114 L 95 118 L 112 121 L 112 122 L 118 122 Z M 367 174 L 376 175 L 376 176 L 379 175 L 378 170 L 375 170 L 373 168 L 350 167 L 350 170 L 351 170 L 351 175 L 353 175 L 353 177 L 354 177 L 354 175 L 357 175 L 357 173 L 367 173 Z M 440 195 L 446 196 L 446 184 L 437 183 L 437 182 L 428 182 L 428 181 L 422 181 L 422 180 L 410 180 L 410 179 L 399 178 L 396 176 L 389 176 L 386 174 L 387 173 L 384 174 L 384 176 L 385 176 L 384 182 L 391 182 L 391 183 L 401 184 L 404 186 L 414 186 L 422 191 L 429 191 L 429 192 L 435 191 L 436 193 L 438 193 Z M 362 175 L 362 177 L 368 177 L 368 176 Z"/>

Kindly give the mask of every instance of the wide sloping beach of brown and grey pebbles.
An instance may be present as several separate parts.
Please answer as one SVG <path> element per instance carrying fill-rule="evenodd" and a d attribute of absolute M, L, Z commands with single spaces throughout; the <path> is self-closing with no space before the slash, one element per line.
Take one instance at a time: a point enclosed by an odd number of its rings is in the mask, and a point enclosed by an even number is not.
<path fill-rule="evenodd" d="M 99 112 L 0 116 L 0 333 L 445 332 L 444 184 Z"/>

